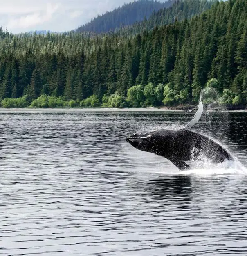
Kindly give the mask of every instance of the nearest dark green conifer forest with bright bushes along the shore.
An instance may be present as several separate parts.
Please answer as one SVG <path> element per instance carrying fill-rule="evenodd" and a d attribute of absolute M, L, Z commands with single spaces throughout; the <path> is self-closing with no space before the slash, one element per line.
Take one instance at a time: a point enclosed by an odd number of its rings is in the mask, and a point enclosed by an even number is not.
<path fill-rule="evenodd" d="M 177 105 L 206 86 L 222 103 L 247 103 L 246 0 L 136 36 L 0 31 L 3 107 Z"/>

